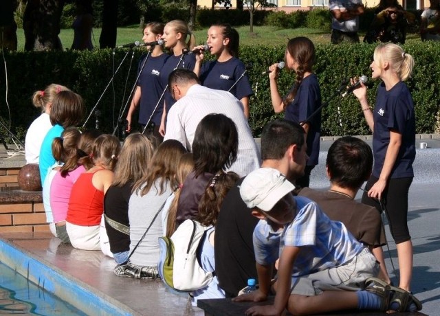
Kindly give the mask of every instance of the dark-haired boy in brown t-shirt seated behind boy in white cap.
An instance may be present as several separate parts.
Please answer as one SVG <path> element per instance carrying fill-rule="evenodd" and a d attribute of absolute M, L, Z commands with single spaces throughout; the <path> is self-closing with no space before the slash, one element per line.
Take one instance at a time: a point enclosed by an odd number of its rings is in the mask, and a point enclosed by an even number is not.
<path fill-rule="evenodd" d="M 373 206 L 354 201 L 364 181 L 371 176 L 373 151 L 362 139 L 342 137 L 331 144 L 326 166 L 330 189 L 303 188 L 298 196 L 318 203 L 332 221 L 344 223 L 349 232 L 373 252 L 380 262 L 380 277 L 390 283 L 382 251 L 386 237 L 380 213 Z"/>

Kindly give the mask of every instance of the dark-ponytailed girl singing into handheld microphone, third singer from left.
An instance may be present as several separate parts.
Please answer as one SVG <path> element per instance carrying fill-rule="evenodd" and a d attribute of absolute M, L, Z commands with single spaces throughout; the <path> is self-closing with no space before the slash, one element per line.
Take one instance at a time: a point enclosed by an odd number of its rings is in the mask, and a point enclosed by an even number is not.
<path fill-rule="evenodd" d="M 201 84 L 211 89 L 230 91 L 243 104 L 245 116 L 249 118 L 249 97 L 254 92 L 245 74 L 245 65 L 239 60 L 239 33 L 228 23 L 211 25 L 206 45 L 217 59 L 202 65 L 203 54 L 196 54 L 194 72 Z M 204 49 L 204 46 L 195 48 Z M 232 89 L 231 89 L 232 88 Z"/>

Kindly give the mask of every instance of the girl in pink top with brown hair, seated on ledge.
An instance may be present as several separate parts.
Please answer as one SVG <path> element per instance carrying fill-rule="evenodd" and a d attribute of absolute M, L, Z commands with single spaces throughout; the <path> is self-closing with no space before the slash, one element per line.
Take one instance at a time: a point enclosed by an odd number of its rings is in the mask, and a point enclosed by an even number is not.
<path fill-rule="evenodd" d="M 67 128 L 65 131 L 67 131 Z M 63 132 L 65 134 L 65 132 Z M 69 199 L 72 187 L 80 174 L 94 166 L 89 155 L 93 148 L 96 137 L 100 135 L 98 130 L 87 130 L 78 137 L 78 142 L 69 142 L 66 137 L 56 137 L 52 148 L 56 146 L 58 153 L 63 153 L 65 162 L 63 166 L 56 171 L 52 184 L 50 185 L 50 207 L 54 216 L 56 236 L 61 242 L 69 244 L 69 235 L 66 231 L 66 216 L 69 208 Z M 55 153 L 57 159 L 59 155 Z M 58 160 L 58 159 L 57 159 Z M 47 175 L 46 179 L 50 177 Z"/>

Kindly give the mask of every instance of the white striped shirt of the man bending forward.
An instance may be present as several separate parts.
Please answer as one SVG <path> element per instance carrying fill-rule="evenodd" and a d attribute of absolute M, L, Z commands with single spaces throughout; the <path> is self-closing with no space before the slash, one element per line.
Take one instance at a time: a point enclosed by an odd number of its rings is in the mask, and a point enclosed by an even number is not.
<path fill-rule="evenodd" d="M 203 117 L 212 113 L 229 117 L 239 133 L 237 158 L 228 171 L 244 177 L 259 168 L 259 150 L 243 113 L 243 104 L 227 91 L 202 87 L 200 84 L 191 86 L 184 98 L 175 102 L 168 113 L 164 140 L 177 139 L 191 151 L 197 125 Z"/>

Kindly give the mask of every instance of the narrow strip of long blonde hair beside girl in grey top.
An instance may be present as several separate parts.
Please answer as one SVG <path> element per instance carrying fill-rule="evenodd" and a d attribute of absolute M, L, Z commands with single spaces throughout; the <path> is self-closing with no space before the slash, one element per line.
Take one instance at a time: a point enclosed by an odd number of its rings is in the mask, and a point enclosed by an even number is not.
<path fill-rule="evenodd" d="M 177 216 L 177 205 L 179 203 L 179 196 L 181 188 L 184 185 L 184 181 L 188 174 L 194 169 L 194 159 L 192 159 L 192 153 L 184 153 L 179 159 L 179 165 L 176 171 L 176 181 L 177 188 L 174 191 L 174 199 L 171 202 L 170 208 L 168 209 L 168 220 L 166 222 L 166 236 L 170 237 L 176 230 L 176 216 Z"/>

